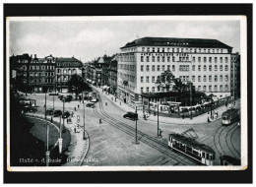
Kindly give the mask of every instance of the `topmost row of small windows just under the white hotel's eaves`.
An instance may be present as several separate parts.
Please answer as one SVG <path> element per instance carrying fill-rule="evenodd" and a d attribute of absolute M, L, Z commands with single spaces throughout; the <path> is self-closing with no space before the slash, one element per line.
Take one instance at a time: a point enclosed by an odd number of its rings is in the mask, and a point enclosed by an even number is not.
<path fill-rule="evenodd" d="M 171 43 L 170 43 L 171 44 Z M 173 43 L 176 44 L 176 43 Z M 165 48 L 165 47 L 142 47 L 142 52 L 195 52 L 195 53 L 224 53 L 224 49 L 206 48 Z"/>

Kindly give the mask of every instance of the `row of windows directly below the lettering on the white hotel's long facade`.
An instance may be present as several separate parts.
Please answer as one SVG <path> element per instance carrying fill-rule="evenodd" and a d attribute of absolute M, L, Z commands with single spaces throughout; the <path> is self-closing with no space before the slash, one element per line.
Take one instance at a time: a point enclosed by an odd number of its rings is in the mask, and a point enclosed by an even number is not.
<path fill-rule="evenodd" d="M 201 60 L 201 58 L 202 57 L 198 57 L 197 59 L 197 62 L 202 62 L 202 60 Z M 167 58 L 165 57 L 165 56 L 157 56 L 157 58 L 156 58 L 156 56 L 146 56 L 146 59 L 145 59 L 145 56 L 141 56 L 141 62 L 144 62 L 145 60 L 146 60 L 146 62 L 156 62 L 156 60 L 157 60 L 157 62 L 170 62 L 170 60 L 172 60 L 172 62 L 175 62 L 175 60 L 177 60 L 178 59 L 178 61 L 180 61 L 180 62 L 188 62 L 188 61 L 190 61 L 189 60 L 189 57 L 188 56 L 180 56 L 180 57 L 178 57 L 178 58 L 175 58 L 175 56 L 172 56 L 172 57 L 170 57 L 170 56 L 167 56 Z M 204 59 L 204 61 L 203 62 L 213 62 L 213 57 L 204 57 L 203 58 Z M 208 61 L 207 61 L 207 59 L 208 59 Z M 219 60 L 218 60 L 218 57 L 215 57 L 214 58 L 214 61 L 215 61 L 215 63 L 217 63 L 217 62 L 219 62 Z M 192 62 L 196 62 L 196 57 L 192 57 Z M 220 57 L 220 62 L 221 63 L 223 63 L 223 62 L 225 62 L 225 63 L 227 63 L 228 62 L 228 57 Z"/>

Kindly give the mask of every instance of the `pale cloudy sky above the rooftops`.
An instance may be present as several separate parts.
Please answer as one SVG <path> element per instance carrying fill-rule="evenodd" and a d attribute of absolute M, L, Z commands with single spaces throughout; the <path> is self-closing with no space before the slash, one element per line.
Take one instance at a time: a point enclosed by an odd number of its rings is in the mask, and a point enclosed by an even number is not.
<path fill-rule="evenodd" d="M 36 54 L 72 57 L 83 62 L 120 47 L 138 37 L 215 38 L 240 52 L 239 21 L 94 20 L 11 21 L 10 55 Z"/>

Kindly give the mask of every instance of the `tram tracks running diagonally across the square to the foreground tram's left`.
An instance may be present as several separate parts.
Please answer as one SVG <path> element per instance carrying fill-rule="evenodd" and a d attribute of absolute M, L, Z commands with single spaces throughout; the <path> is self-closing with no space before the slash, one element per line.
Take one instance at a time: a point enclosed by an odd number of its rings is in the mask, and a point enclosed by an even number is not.
<path fill-rule="evenodd" d="M 99 94 L 98 94 L 99 95 Z M 115 128 L 123 131 L 124 133 L 132 136 L 132 137 L 135 137 L 135 128 L 133 127 L 130 127 L 129 125 L 121 122 L 121 121 L 118 121 L 116 120 L 115 118 L 113 118 L 112 116 L 108 115 L 104 109 L 103 109 L 103 106 L 102 106 L 102 101 L 101 101 L 101 98 L 99 96 L 99 103 L 98 103 L 99 107 L 99 111 L 97 111 L 97 107 L 94 109 L 96 115 L 98 117 L 100 117 L 101 119 L 103 119 L 104 121 L 106 121 L 108 124 L 114 126 Z M 141 131 L 137 131 L 138 133 L 138 137 L 141 137 L 140 141 L 145 143 L 146 145 L 154 148 L 155 150 L 159 151 L 160 153 L 166 155 L 166 156 L 169 156 L 171 157 L 173 160 L 179 162 L 179 163 L 182 163 L 184 165 L 191 165 L 191 162 L 189 161 L 192 161 L 184 156 L 180 156 L 180 155 L 177 155 L 177 154 L 174 154 L 174 153 L 170 153 L 169 151 L 169 148 L 166 144 L 150 137 L 149 135 L 141 132 Z M 195 163 L 195 161 L 193 160 L 193 162 Z"/>

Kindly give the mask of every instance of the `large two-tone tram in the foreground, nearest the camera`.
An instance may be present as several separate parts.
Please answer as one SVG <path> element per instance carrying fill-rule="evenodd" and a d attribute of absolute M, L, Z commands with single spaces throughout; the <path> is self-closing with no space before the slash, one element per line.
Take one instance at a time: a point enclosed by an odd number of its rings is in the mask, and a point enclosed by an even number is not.
<path fill-rule="evenodd" d="M 195 140 L 191 140 L 180 134 L 169 134 L 168 147 L 171 150 L 197 160 L 201 164 L 213 165 L 215 160 L 215 151 L 212 148 L 199 144 Z"/>

